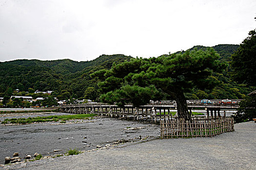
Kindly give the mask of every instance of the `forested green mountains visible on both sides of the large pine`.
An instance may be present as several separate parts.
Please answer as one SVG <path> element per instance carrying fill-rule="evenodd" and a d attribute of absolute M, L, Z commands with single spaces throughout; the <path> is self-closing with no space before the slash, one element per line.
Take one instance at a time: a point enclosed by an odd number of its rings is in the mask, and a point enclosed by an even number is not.
<path fill-rule="evenodd" d="M 229 62 L 230 56 L 238 47 L 239 45 L 217 45 L 213 48 L 220 54 L 220 60 Z M 207 47 L 195 46 L 191 50 L 195 48 Z M 96 91 L 98 88 L 98 80 L 92 79 L 91 73 L 100 69 L 109 69 L 114 62 L 119 63 L 131 58 L 116 54 L 101 55 L 95 60 L 85 62 L 69 59 L 53 61 L 24 59 L 0 62 L 0 97 L 6 95 L 10 88 L 13 90 L 18 88 L 21 91 L 33 88 L 40 91 L 54 90 L 53 95 L 59 99 L 83 98 L 88 87 L 94 87 Z M 223 74 L 214 74 L 219 85 L 213 90 L 193 88 L 185 96 L 188 99 L 241 99 L 254 90 L 254 87 L 238 85 L 231 81 L 228 72 L 227 69 Z"/>

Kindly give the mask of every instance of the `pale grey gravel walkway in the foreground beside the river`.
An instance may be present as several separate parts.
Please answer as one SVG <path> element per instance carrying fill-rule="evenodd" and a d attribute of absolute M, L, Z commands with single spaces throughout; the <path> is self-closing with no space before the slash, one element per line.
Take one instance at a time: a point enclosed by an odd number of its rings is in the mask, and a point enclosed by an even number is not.
<path fill-rule="evenodd" d="M 122 148 L 45 159 L 19 170 L 256 170 L 256 123 L 213 138 L 151 140 Z"/>

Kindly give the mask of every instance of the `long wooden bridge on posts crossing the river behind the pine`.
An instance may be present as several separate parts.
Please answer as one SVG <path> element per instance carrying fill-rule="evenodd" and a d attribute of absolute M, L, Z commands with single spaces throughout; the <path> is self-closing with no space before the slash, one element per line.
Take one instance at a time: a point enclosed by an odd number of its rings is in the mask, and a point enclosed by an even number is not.
<path fill-rule="evenodd" d="M 226 117 L 226 110 L 236 110 L 239 108 L 237 103 L 233 104 L 209 104 L 209 103 L 189 103 L 188 109 L 192 113 L 192 109 L 204 109 L 207 113 L 207 118 L 221 117 L 220 110 L 224 111 L 223 117 Z M 60 112 L 73 114 L 98 114 L 100 116 L 128 118 L 134 120 L 147 120 L 157 122 L 162 119 L 170 119 L 174 117 L 171 110 L 177 109 L 177 104 L 173 103 L 153 103 L 140 106 L 139 108 L 133 105 L 108 105 L 105 103 L 93 104 L 74 104 L 62 105 Z"/>

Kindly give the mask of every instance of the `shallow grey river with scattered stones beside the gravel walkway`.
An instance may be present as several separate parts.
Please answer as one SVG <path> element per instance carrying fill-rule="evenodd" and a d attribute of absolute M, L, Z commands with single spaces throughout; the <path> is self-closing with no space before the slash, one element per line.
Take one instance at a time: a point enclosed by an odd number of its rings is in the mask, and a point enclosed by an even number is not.
<path fill-rule="evenodd" d="M 59 113 L 51 113 L 59 114 Z M 47 116 L 45 114 L 18 114 L 6 117 L 26 118 Z M 7 115 L 6 115 L 7 116 Z M 5 117 L 0 118 L 1 120 Z M 157 124 L 96 117 L 92 120 L 70 120 L 61 123 L 35 123 L 26 125 L 0 126 L 0 164 L 6 156 L 19 153 L 21 160 L 34 153 L 43 156 L 66 153 L 69 149 L 87 151 L 98 146 L 151 139 L 160 135 Z M 58 150 L 58 152 L 54 152 Z"/>

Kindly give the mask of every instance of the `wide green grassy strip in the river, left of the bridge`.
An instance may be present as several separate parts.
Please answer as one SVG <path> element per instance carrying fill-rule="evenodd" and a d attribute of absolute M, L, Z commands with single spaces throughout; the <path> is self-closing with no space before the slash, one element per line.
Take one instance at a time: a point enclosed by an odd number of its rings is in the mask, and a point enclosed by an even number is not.
<path fill-rule="evenodd" d="M 70 119 L 90 119 L 91 117 L 96 116 L 96 114 L 79 114 L 79 115 L 54 115 L 54 116 L 45 116 L 45 117 L 35 117 L 35 118 L 12 118 L 12 119 L 4 119 L 1 124 L 29 124 L 34 122 L 50 122 L 60 121 L 61 123 L 65 123 L 66 120 Z"/>

